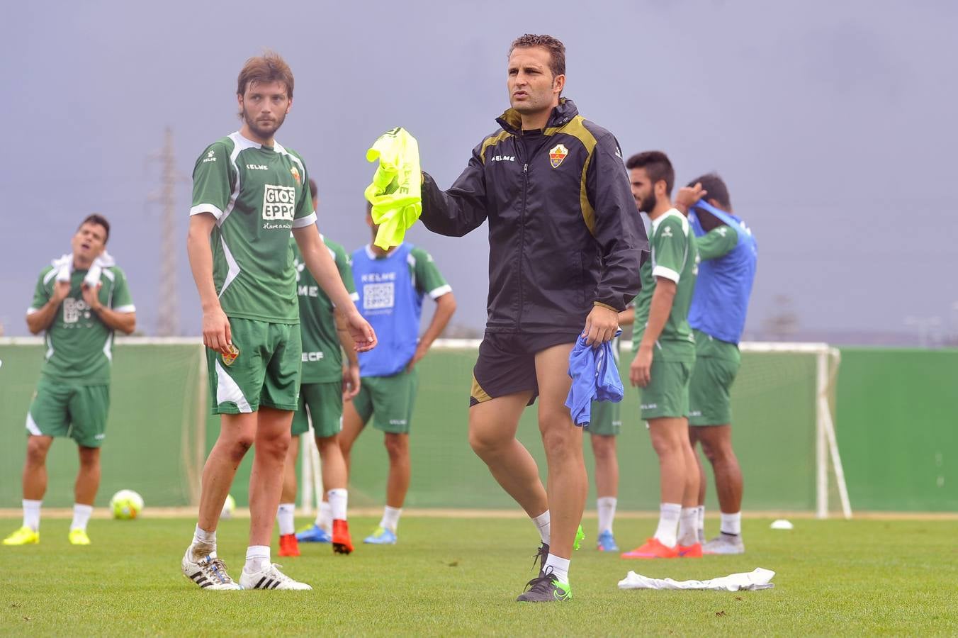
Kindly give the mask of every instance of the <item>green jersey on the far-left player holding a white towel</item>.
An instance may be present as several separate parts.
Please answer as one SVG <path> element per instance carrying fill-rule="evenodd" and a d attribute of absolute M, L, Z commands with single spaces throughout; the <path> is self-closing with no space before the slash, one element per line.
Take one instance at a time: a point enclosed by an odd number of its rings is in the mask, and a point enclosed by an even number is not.
<path fill-rule="evenodd" d="M 47 352 L 40 373 L 54 380 L 101 385 L 110 382 L 113 330 L 83 301 L 81 285 L 86 272 L 74 270 L 70 275 L 70 294 L 57 308 L 54 321 L 44 334 Z M 40 271 L 34 301 L 27 309 L 27 314 L 36 312 L 50 301 L 55 285 L 57 268 L 50 265 Z M 136 310 L 126 286 L 126 276 L 117 266 L 103 268 L 100 275 L 100 303 L 117 312 Z"/>

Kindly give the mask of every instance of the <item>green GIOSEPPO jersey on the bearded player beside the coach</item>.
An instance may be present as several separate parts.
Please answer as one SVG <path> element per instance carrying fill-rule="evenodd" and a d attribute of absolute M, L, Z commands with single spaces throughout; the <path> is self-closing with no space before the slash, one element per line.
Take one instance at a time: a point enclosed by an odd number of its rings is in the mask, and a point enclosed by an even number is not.
<path fill-rule="evenodd" d="M 213 282 L 228 317 L 299 323 L 293 228 L 315 223 L 303 159 L 239 132 L 196 160 L 190 215 L 217 218 L 211 237 Z"/>

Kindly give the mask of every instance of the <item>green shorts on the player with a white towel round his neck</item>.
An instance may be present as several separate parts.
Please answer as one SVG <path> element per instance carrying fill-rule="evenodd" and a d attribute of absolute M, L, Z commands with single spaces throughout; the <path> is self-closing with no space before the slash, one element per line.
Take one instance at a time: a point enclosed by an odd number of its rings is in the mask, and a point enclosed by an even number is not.
<path fill-rule="evenodd" d="M 70 437 L 83 447 L 100 447 L 106 438 L 110 386 L 79 385 L 41 377 L 27 411 L 27 432 Z"/>

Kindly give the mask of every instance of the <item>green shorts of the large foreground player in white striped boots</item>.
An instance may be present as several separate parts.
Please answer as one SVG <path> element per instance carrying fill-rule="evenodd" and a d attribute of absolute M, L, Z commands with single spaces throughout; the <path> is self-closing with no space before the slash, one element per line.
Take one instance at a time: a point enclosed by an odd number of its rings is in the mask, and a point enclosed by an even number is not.
<path fill-rule="evenodd" d="M 303 349 L 299 326 L 231 317 L 230 330 L 239 350 L 232 363 L 206 349 L 213 414 L 256 412 L 261 406 L 295 412 Z"/>

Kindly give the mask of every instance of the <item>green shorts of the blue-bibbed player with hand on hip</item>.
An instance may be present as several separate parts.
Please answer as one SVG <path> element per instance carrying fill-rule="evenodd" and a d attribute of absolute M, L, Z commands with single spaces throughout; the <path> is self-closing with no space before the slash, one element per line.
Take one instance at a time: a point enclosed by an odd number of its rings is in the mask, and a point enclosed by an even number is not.
<path fill-rule="evenodd" d="M 373 426 L 377 430 L 408 434 L 418 388 L 415 368 L 393 376 L 363 376 L 353 404 L 363 423 L 375 416 Z"/>

